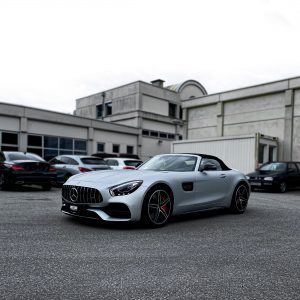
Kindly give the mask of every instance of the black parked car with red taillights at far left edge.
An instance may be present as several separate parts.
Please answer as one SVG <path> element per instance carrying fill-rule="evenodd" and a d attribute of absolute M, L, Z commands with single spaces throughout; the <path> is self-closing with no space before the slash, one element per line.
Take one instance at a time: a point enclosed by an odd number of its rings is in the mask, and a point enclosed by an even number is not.
<path fill-rule="evenodd" d="M 29 152 L 0 152 L 0 189 L 20 185 L 40 185 L 50 190 L 56 169 L 40 156 Z"/>

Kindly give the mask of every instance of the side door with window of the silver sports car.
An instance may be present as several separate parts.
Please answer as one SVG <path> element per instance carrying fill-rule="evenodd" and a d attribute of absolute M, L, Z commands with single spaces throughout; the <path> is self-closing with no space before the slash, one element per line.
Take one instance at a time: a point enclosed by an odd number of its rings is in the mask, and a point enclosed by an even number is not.
<path fill-rule="evenodd" d="M 199 207 L 223 206 L 230 185 L 230 171 L 224 170 L 216 159 L 202 158 L 196 178 Z"/>

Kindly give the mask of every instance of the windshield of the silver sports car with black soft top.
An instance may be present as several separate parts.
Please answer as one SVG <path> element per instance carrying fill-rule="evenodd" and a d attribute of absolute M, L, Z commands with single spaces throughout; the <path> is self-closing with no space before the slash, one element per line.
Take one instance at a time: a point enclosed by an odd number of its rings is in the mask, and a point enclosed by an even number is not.
<path fill-rule="evenodd" d="M 191 172 L 195 170 L 197 158 L 188 155 L 159 155 L 139 167 L 139 170 Z"/>

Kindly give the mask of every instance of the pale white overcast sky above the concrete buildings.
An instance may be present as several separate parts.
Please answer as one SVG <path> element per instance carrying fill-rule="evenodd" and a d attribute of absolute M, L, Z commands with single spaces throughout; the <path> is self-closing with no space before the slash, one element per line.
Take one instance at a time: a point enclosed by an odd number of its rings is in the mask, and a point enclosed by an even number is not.
<path fill-rule="evenodd" d="M 136 80 L 300 76 L 299 0 L 0 0 L 0 102 L 72 113 Z"/>

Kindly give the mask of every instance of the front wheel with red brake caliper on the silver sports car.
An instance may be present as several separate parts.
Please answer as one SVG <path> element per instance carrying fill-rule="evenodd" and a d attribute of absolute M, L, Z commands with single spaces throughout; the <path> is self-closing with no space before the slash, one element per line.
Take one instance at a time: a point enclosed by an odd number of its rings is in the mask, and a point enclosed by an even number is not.
<path fill-rule="evenodd" d="M 142 222 L 152 228 L 162 227 L 170 219 L 173 210 L 173 196 L 164 186 L 148 191 L 142 208 Z"/>

